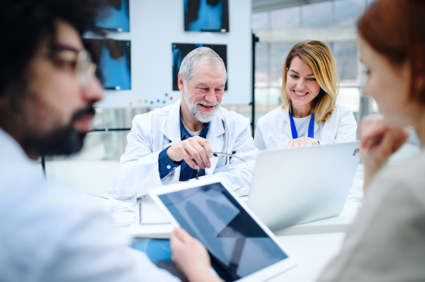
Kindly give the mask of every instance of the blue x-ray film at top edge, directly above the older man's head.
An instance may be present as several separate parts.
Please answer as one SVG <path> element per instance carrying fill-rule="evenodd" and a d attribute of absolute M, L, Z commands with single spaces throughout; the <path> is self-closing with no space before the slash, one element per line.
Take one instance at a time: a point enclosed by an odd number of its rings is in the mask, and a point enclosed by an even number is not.
<path fill-rule="evenodd" d="M 228 0 L 184 0 L 184 30 L 228 33 Z"/>

